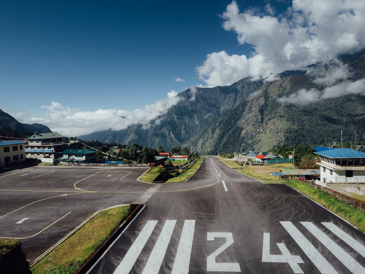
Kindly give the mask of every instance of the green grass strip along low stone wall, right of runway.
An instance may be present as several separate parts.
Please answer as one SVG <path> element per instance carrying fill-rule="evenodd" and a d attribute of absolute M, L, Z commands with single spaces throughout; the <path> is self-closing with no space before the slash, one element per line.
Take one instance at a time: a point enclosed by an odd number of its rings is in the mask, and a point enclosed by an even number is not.
<path fill-rule="evenodd" d="M 285 183 L 293 189 L 299 190 L 301 193 L 307 195 L 321 205 L 326 205 L 326 208 L 355 225 L 361 232 L 365 232 L 365 212 L 363 210 L 353 208 L 352 206 L 339 201 L 335 197 L 328 195 L 322 190 L 315 189 L 314 187 L 301 183 L 298 180 L 289 180 Z"/>

